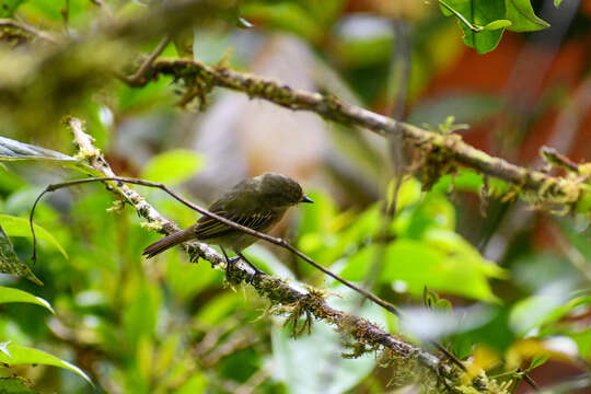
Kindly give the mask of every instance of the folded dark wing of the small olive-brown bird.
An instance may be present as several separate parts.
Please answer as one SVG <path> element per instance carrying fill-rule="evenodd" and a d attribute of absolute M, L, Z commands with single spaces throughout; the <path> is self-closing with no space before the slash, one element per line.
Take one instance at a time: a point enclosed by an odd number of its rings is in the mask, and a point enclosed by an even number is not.
<path fill-rule="evenodd" d="M 212 210 L 212 212 L 256 231 L 267 230 L 268 227 L 273 224 L 277 219 L 277 213 L 274 211 L 263 211 L 251 215 L 235 213 L 223 210 Z M 206 216 L 201 217 L 197 221 L 197 225 L 195 228 L 195 234 L 199 240 L 223 236 L 233 231 L 236 230 L 223 224 L 222 222 L 213 218 L 209 218 Z"/>

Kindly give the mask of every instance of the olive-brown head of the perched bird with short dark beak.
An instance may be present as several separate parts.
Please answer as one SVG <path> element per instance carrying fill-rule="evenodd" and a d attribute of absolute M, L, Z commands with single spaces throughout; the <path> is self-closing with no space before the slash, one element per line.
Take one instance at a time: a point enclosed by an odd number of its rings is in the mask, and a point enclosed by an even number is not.
<path fill-rule="evenodd" d="M 313 202 L 304 195 L 302 187 L 292 178 L 277 174 L 265 173 L 254 178 L 262 198 L 269 206 L 283 208 L 299 202 Z"/>

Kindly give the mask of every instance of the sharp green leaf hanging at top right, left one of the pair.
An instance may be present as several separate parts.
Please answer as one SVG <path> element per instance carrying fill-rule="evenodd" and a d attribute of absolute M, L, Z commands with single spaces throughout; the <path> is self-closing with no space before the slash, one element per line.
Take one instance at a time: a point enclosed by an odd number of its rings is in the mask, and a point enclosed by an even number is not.
<path fill-rule="evenodd" d="M 506 18 L 505 0 L 439 0 L 448 14 L 451 10 L 464 32 L 464 43 L 486 54 L 499 44 L 505 28 L 484 30 L 487 24 Z M 468 26 L 468 24 L 471 26 Z M 474 31 L 474 30 L 480 30 Z"/>

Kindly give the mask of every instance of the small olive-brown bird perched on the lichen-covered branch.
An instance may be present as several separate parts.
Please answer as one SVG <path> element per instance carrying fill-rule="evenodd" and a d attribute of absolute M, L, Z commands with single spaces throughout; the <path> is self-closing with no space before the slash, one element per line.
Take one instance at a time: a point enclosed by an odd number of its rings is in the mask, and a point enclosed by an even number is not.
<path fill-rule="evenodd" d="M 259 232 L 270 230 L 286 213 L 299 202 L 313 202 L 293 179 L 276 173 L 265 173 L 244 179 L 221 196 L 209 207 L 209 211 Z M 143 255 L 155 256 L 165 250 L 189 240 L 219 245 L 232 250 L 256 273 L 260 273 L 243 255 L 242 251 L 257 241 L 256 236 L 233 229 L 220 221 L 204 216 L 195 224 L 163 237 L 146 247 Z M 230 260 L 228 260 L 230 263 Z"/>

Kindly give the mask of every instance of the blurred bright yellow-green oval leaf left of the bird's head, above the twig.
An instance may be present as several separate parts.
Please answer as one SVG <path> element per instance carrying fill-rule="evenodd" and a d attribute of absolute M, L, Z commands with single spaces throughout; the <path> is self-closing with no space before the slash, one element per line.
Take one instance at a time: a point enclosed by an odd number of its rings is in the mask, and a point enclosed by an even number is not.
<path fill-rule="evenodd" d="M 153 157 L 143 167 L 141 178 L 174 185 L 188 181 L 204 164 L 200 154 L 174 149 Z"/>

